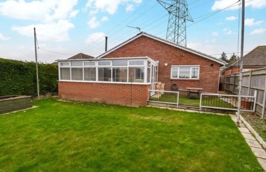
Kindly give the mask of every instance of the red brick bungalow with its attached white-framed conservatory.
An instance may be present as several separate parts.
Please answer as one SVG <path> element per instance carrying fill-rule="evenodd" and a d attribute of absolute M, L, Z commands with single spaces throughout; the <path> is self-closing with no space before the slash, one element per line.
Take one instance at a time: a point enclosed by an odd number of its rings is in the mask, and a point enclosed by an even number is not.
<path fill-rule="evenodd" d="M 59 98 L 145 106 L 148 89 L 200 87 L 218 92 L 225 62 L 141 32 L 96 58 L 59 62 Z"/>

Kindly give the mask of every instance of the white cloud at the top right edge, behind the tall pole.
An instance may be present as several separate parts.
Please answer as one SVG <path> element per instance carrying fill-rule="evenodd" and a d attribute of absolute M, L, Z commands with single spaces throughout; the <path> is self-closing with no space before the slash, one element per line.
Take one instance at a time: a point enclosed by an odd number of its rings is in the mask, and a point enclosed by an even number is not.
<path fill-rule="evenodd" d="M 233 2 L 235 2 L 235 1 L 233 1 L 233 0 L 215 0 L 211 9 L 213 11 L 221 10 L 221 9 L 228 7 Z M 237 3 L 235 3 L 235 4 L 237 4 Z M 252 0 L 252 1 L 246 2 L 245 6 L 251 6 L 252 8 L 262 8 L 262 7 L 266 6 L 266 0 Z M 238 9 L 238 5 L 235 5 L 235 6 L 232 5 L 232 7 L 228 8 L 227 10 L 235 10 L 235 9 Z"/>

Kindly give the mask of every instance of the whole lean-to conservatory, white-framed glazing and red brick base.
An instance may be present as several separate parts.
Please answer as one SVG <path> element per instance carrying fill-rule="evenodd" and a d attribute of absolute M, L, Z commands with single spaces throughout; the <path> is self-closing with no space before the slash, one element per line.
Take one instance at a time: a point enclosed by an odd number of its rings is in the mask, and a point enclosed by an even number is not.
<path fill-rule="evenodd" d="M 59 98 L 108 104 L 147 104 L 158 62 L 150 57 L 57 60 Z"/>

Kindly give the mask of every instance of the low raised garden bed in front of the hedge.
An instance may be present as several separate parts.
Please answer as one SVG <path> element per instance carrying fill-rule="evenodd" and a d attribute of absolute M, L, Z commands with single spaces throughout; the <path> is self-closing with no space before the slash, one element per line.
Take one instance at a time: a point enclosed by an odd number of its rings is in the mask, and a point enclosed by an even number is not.
<path fill-rule="evenodd" d="M 0 97 L 0 114 L 31 108 L 30 96 L 8 95 Z"/>

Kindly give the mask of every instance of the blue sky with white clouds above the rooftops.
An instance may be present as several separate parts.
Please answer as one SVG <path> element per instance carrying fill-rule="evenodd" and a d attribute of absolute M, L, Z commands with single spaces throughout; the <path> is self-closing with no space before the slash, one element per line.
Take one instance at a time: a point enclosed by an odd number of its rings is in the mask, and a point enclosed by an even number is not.
<path fill-rule="evenodd" d="M 247 53 L 266 45 L 266 0 L 245 1 Z M 187 3 L 194 21 L 187 22 L 187 47 L 214 57 L 240 51 L 237 0 Z M 156 0 L 0 0 L 0 57 L 34 61 L 34 27 L 38 61 L 51 63 L 77 53 L 97 57 L 105 36 L 110 49 L 139 32 L 127 26 L 165 38 L 167 24 L 168 12 Z"/>

